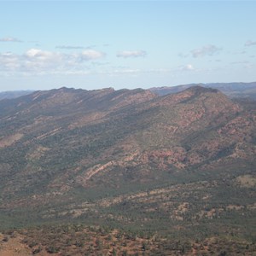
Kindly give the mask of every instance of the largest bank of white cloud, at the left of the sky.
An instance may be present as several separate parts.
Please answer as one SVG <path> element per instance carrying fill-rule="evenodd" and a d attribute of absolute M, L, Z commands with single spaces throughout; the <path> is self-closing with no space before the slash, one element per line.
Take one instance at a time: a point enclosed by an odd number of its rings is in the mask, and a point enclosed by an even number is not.
<path fill-rule="evenodd" d="M 88 61 L 100 59 L 105 54 L 96 50 L 63 54 L 43 49 L 28 49 L 24 54 L 0 53 L 0 70 L 4 75 L 12 73 L 88 73 Z"/>

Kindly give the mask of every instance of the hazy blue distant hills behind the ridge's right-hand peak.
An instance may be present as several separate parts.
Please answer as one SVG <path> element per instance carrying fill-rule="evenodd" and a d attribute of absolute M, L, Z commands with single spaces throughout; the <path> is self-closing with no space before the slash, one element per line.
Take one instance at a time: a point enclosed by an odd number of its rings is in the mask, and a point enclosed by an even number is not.
<path fill-rule="evenodd" d="M 164 96 L 170 93 L 177 93 L 179 91 L 188 89 L 192 86 L 203 86 L 207 88 L 214 88 L 222 91 L 225 95 L 231 98 L 252 98 L 256 100 L 256 82 L 253 83 L 214 83 L 214 84 L 183 84 L 172 87 L 154 87 L 149 90 Z"/>

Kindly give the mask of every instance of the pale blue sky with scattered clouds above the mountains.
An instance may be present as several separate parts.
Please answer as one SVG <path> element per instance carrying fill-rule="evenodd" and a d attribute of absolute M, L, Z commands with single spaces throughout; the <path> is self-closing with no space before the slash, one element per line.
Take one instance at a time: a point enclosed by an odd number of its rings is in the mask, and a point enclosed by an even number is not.
<path fill-rule="evenodd" d="M 256 81 L 255 1 L 1 1 L 0 91 Z"/>

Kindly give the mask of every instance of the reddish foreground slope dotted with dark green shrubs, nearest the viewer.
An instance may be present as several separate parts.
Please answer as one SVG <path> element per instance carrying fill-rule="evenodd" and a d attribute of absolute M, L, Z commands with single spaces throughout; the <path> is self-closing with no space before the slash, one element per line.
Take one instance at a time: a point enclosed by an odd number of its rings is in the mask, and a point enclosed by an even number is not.
<path fill-rule="evenodd" d="M 8 240 L 5 239 L 9 237 Z M 61 255 L 253 255 L 256 244 L 236 237 L 212 236 L 207 239 L 166 238 L 157 233 L 135 235 L 131 231 L 106 227 L 66 224 L 40 226 L 6 232 L 3 244 L 22 237 L 32 252 Z M 0 247 L 1 248 L 1 247 Z"/>

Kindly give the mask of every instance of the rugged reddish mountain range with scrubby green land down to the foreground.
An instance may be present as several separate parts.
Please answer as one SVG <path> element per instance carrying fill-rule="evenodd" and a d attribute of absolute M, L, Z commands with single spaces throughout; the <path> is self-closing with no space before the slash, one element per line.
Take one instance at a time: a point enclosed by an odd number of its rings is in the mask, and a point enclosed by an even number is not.
<path fill-rule="evenodd" d="M 0 109 L 0 252 L 255 252 L 253 100 L 61 88 Z"/>

